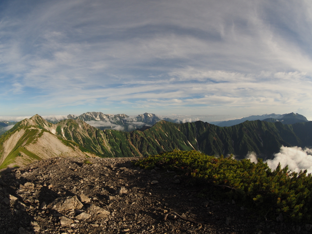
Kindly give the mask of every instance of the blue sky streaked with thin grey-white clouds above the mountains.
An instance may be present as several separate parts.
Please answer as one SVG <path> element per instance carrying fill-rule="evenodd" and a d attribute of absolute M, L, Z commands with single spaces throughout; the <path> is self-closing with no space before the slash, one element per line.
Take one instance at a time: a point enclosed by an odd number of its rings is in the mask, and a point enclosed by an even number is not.
<path fill-rule="evenodd" d="M 0 2 L 0 116 L 312 120 L 308 0 Z"/>

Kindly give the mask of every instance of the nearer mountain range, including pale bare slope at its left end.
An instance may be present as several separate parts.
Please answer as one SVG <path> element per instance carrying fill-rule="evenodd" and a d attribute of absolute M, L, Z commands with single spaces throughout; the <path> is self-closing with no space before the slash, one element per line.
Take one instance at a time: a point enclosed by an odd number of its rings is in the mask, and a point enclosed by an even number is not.
<path fill-rule="evenodd" d="M 143 115 L 141 120 L 155 121 L 153 117 Z M 266 159 L 279 152 L 282 145 L 311 147 L 311 130 L 311 121 L 282 124 L 247 120 L 220 127 L 202 121 L 176 124 L 160 120 L 148 129 L 125 132 L 100 130 L 80 118 L 53 124 L 34 115 L 0 137 L 0 169 L 49 157 L 132 157 L 173 149 L 199 150 L 208 155 L 235 154 L 237 158 L 255 152 Z"/>

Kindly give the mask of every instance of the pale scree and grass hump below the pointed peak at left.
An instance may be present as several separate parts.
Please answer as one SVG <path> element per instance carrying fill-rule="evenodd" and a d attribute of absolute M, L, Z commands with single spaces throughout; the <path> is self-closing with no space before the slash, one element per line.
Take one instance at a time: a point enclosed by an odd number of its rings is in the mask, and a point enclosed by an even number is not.
<path fill-rule="evenodd" d="M 60 156 L 97 155 L 36 126 L 21 126 L 0 137 L 0 169 L 21 167 L 41 159 Z"/>

